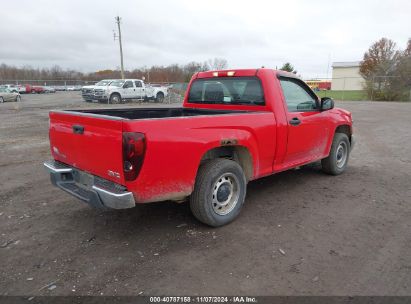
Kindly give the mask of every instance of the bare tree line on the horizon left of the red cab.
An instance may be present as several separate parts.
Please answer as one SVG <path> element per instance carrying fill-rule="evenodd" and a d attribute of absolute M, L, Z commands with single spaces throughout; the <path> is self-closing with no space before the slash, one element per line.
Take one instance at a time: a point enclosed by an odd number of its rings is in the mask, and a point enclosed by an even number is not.
<path fill-rule="evenodd" d="M 167 66 L 142 67 L 124 71 L 126 78 L 143 77 L 147 82 L 188 82 L 196 72 L 208 70 L 221 70 L 228 67 L 227 60 L 223 58 L 209 59 L 204 62 L 189 62 L 184 65 L 171 64 Z M 101 79 L 121 78 L 120 70 L 100 70 L 91 73 L 82 73 L 73 69 L 63 69 L 58 65 L 51 68 L 33 68 L 31 66 L 16 67 L 0 64 L 0 80 L 82 80 L 98 81 Z"/>

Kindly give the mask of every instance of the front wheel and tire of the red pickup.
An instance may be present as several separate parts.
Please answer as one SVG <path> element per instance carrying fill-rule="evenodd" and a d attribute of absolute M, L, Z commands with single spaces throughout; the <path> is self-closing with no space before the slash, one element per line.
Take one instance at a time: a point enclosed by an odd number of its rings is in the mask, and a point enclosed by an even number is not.
<path fill-rule="evenodd" d="M 331 175 L 340 175 L 345 171 L 350 157 L 350 140 L 347 134 L 335 133 L 330 154 L 321 160 L 322 170 Z"/>

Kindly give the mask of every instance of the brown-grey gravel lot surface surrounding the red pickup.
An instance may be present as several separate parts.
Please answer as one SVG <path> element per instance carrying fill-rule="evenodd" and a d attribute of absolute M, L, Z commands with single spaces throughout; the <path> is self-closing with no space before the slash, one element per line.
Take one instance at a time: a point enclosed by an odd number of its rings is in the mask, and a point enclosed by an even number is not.
<path fill-rule="evenodd" d="M 345 174 L 251 182 L 212 229 L 186 203 L 101 212 L 51 186 L 48 111 L 103 105 L 0 104 L 0 295 L 411 295 L 411 104 L 337 105 L 357 137 Z"/>

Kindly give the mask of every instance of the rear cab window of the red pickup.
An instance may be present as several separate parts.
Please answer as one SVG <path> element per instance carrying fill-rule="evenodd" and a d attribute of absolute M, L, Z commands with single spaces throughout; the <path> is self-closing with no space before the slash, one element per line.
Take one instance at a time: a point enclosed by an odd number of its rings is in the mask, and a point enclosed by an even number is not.
<path fill-rule="evenodd" d="M 264 105 L 264 94 L 256 77 L 204 78 L 194 80 L 188 102 Z"/>

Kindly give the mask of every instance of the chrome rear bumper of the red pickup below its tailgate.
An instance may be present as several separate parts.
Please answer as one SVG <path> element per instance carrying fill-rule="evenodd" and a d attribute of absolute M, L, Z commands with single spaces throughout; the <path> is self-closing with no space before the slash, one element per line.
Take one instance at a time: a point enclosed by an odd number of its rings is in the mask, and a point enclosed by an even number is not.
<path fill-rule="evenodd" d="M 53 185 L 92 207 L 127 209 L 136 205 L 133 193 L 119 184 L 54 160 L 44 162 L 44 166 Z"/>

